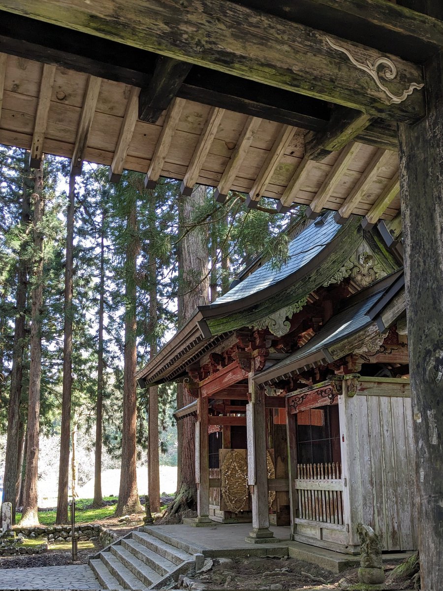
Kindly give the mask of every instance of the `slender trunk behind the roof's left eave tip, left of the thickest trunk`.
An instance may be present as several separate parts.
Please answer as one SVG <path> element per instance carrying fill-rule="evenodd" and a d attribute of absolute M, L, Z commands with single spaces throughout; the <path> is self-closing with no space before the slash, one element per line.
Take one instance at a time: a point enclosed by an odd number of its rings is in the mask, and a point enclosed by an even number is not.
<path fill-rule="evenodd" d="M 149 195 L 149 225 L 152 228 L 151 236 L 154 235 L 155 226 L 155 194 Z M 149 343 L 152 359 L 157 353 L 157 260 L 152 248 L 152 241 L 149 241 L 148 251 L 149 269 L 149 328 L 151 342 Z M 149 465 L 148 465 L 148 491 L 151 511 L 160 511 L 160 462 L 158 453 L 158 388 L 149 388 L 149 415 L 148 415 L 148 440 L 149 440 Z"/>

